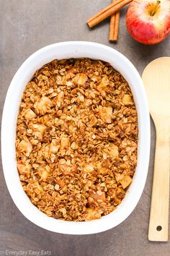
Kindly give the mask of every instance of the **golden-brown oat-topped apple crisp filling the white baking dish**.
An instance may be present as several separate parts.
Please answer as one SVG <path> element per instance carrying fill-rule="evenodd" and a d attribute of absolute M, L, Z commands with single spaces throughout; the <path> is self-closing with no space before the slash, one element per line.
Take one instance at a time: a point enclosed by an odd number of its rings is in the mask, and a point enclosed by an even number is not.
<path fill-rule="evenodd" d="M 128 82 L 109 63 L 54 60 L 27 83 L 17 117 L 19 178 L 48 216 L 91 221 L 125 197 L 137 163 Z"/>

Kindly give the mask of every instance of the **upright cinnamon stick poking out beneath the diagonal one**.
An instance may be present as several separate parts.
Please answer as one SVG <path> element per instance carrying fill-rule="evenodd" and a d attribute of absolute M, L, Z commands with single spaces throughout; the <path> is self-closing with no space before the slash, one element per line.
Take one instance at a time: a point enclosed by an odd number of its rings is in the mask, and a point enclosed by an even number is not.
<path fill-rule="evenodd" d="M 114 2 L 115 0 L 112 0 Z M 120 11 L 112 14 L 109 22 L 109 40 L 117 42 L 119 33 Z"/>

